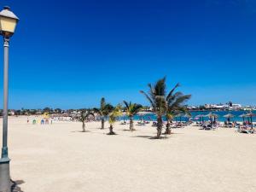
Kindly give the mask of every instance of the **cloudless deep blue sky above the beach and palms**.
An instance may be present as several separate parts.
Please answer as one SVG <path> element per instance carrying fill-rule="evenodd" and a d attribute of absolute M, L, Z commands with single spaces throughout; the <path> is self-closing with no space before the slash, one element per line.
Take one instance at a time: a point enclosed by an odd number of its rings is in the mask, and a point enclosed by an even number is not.
<path fill-rule="evenodd" d="M 253 0 L 2 0 L 20 17 L 11 39 L 10 108 L 87 108 L 167 76 L 189 104 L 256 104 Z M 3 54 L 0 55 L 3 61 Z M 1 77 L 3 77 L 3 67 Z M 0 81 L 1 106 L 3 78 Z"/>

